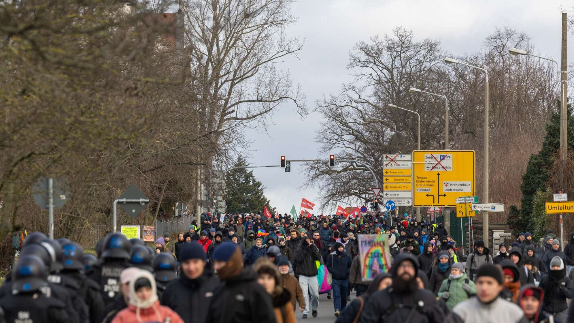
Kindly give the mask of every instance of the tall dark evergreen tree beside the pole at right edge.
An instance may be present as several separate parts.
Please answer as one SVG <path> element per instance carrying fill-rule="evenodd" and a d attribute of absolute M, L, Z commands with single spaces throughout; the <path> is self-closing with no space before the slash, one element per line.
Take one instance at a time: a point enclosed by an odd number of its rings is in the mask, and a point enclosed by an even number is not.
<path fill-rule="evenodd" d="M 560 105 L 560 102 L 558 103 Z M 570 105 L 568 105 L 568 149 L 574 149 L 574 128 L 573 117 Z M 553 113 L 550 122 L 546 124 L 546 136 L 542 142 L 542 148 L 536 154 L 530 156 L 526 172 L 522 175 L 521 208 L 510 206 L 507 222 L 513 234 L 518 236 L 519 232 L 532 232 L 535 228 L 533 214 L 533 200 L 535 195 L 543 196 L 548 185 L 550 172 L 559 156 L 560 149 L 560 114 Z M 532 232 L 534 233 L 534 232 Z"/>

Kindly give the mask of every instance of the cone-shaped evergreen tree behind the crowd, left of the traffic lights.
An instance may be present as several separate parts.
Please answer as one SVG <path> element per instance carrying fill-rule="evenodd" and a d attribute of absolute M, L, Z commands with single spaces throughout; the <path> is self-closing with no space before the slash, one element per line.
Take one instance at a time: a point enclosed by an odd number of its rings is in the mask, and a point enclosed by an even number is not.
<path fill-rule="evenodd" d="M 248 166 L 243 157 L 239 157 L 234 167 Z M 261 213 L 263 206 L 274 215 L 276 210 L 269 204 L 269 199 L 263 194 L 265 187 L 253 176 L 253 171 L 238 168 L 227 172 L 226 175 L 226 209 L 230 213 Z"/>

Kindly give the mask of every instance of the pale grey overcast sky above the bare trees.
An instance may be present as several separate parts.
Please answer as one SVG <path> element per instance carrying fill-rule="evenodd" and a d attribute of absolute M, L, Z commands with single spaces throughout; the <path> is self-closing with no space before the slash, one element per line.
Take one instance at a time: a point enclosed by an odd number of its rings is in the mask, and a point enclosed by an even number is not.
<path fill-rule="evenodd" d="M 293 82 L 301 84 L 309 110 L 313 110 L 316 99 L 338 93 L 341 84 L 351 80 L 345 67 L 353 45 L 377 34 L 391 34 L 396 26 L 412 30 L 416 40 L 440 40 L 444 50 L 462 55 L 480 51 L 484 38 L 495 27 L 506 25 L 529 34 L 542 56 L 560 61 L 561 5 L 570 10 L 572 2 L 301 0 L 293 4 L 292 13 L 299 19 L 287 34 L 307 41 L 298 60 L 287 59 L 280 68 L 289 70 Z M 573 61 L 573 42 L 569 37 L 569 62 Z M 250 164 L 278 164 L 280 155 L 288 159 L 328 158 L 317 156 L 319 144 L 314 138 L 320 128 L 319 114 L 311 113 L 301 120 L 293 105 L 286 103 L 275 111 L 273 122 L 269 133 L 247 133 L 253 140 Z M 317 189 L 297 190 L 305 181 L 300 171 L 301 164 L 292 163 L 289 173 L 280 168 L 255 168 L 253 172 L 266 187 L 271 205 L 288 213 L 293 204 L 298 211 L 301 197 L 315 202 L 321 194 Z M 335 212 L 315 207 L 316 214 L 321 211 Z"/>

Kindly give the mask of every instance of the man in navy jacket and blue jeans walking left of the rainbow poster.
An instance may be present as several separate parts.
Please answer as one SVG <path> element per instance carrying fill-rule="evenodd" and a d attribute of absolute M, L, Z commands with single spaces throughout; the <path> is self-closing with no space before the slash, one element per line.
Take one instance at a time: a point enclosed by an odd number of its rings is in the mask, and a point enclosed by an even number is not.
<path fill-rule="evenodd" d="M 327 269 L 333 277 L 331 283 L 333 291 L 333 307 L 335 316 L 339 316 L 347 306 L 347 291 L 349 287 L 349 274 L 351 271 L 351 255 L 347 253 L 343 244 L 335 243 L 335 251 L 327 258 Z"/>

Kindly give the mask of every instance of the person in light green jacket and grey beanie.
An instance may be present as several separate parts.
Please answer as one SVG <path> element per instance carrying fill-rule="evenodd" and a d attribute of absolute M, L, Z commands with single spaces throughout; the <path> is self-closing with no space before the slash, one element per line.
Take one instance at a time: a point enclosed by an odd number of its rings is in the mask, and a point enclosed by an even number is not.
<path fill-rule="evenodd" d="M 456 304 L 466 301 L 475 294 L 476 286 L 464 272 L 463 264 L 453 264 L 451 274 L 440 286 L 439 298 L 444 299 L 448 310 L 452 310 Z"/>

